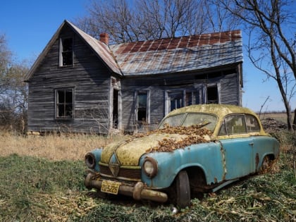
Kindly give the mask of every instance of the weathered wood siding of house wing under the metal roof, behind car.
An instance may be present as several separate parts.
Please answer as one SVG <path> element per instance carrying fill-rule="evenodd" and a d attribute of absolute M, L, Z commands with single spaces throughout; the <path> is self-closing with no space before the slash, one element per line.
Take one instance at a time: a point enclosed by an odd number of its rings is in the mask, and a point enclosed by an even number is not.
<path fill-rule="evenodd" d="M 227 68 L 226 68 L 227 70 Z M 230 71 L 225 73 L 221 70 L 212 70 L 210 73 L 204 75 L 203 73 L 183 73 L 171 75 L 159 75 L 154 77 L 133 77 L 123 78 L 121 80 L 121 93 L 122 93 L 122 125 L 123 130 L 128 132 L 143 131 L 147 129 L 156 128 L 162 118 L 166 114 L 166 92 L 184 91 L 194 92 L 198 97 L 199 93 L 204 92 L 199 90 L 204 89 L 207 85 L 219 85 L 219 98 L 220 104 L 233 104 L 240 106 L 238 85 L 238 73 L 232 72 L 235 70 L 230 68 Z M 211 73 L 214 77 L 211 78 Z M 217 75 L 217 73 L 220 73 Z M 206 76 L 204 78 L 203 76 Z M 136 109 L 136 91 L 149 91 L 150 92 L 150 125 L 142 125 L 137 123 L 135 116 Z M 204 95 L 201 95 L 203 97 Z M 194 104 L 202 104 L 202 100 L 194 99 Z"/>

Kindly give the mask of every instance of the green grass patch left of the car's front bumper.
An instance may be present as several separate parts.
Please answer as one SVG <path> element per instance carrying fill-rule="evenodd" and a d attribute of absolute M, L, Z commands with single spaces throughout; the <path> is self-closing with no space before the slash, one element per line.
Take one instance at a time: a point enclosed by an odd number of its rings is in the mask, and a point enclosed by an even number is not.
<path fill-rule="evenodd" d="M 82 161 L 49 161 L 30 156 L 0 156 L 0 221 L 43 221 L 52 197 L 85 189 Z M 57 195 L 62 194 L 62 195 Z"/>

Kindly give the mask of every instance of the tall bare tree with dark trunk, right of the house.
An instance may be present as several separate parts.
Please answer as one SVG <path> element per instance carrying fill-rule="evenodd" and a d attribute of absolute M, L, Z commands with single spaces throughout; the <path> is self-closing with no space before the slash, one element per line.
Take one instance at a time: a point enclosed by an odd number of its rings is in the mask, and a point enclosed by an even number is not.
<path fill-rule="evenodd" d="M 296 16 L 292 1 L 221 0 L 220 4 L 245 24 L 249 35 L 248 56 L 267 78 L 276 80 L 288 129 L 292 130 L 290 100 L 296 87 Z"/>

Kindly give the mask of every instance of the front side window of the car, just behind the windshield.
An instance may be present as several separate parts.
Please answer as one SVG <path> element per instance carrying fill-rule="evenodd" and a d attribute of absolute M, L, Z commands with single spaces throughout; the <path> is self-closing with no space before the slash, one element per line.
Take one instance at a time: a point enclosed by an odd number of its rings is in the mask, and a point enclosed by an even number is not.
<path fill-rule="evenodd" d="M 247 133 L 245 115 L 229 115 L 224 118 L 219 135 Z"/>

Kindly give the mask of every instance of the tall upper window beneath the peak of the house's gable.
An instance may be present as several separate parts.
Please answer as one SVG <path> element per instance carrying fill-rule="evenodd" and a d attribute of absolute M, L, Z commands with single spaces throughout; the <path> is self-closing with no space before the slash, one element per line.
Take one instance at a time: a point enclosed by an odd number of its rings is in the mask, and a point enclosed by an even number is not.
<path fill-rule="evenodd" d="M 73 65 L 73 38 L 60 39 L 59 66 Z"/>

